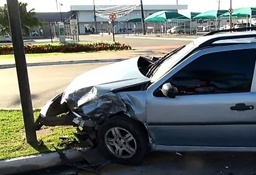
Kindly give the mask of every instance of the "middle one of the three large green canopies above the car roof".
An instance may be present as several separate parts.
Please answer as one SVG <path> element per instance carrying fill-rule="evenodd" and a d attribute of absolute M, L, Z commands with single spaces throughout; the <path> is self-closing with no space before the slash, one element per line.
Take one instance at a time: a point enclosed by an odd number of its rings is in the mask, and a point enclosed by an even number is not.
<path fill-rule="evenodd" d="M 199 19 L 215 19 L 215 28 L 217 30 L 217 18 L 220 17 L 220 15 L 224 14 L 227 12 L 227 10 L 210 10 L 210 11 L 205 11 L 202 12 L 201 14 L 196 15 L 193 17 L 194 20 L 199 20 Z"/>

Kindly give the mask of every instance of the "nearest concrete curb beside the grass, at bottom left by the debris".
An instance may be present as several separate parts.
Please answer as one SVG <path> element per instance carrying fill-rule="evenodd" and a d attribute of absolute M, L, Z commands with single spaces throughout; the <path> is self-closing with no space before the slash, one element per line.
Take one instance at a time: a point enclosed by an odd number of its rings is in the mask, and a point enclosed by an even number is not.
<path fill-rule="evenodd" d="M 81 152 L 79 151 L 69 149 L 67 151 L 64 151 L 64 153 L 71 161 L 84 160 Z M 0 161 L 0 174 L 7 175 L 14 173 L 24 173 L 27 171 L 55 167 L 63 164 L 64 162 L 60 159 L 60 155 L 57 152 L 32 155 L 28 157 L 12 158 L 10 160 Z"/>

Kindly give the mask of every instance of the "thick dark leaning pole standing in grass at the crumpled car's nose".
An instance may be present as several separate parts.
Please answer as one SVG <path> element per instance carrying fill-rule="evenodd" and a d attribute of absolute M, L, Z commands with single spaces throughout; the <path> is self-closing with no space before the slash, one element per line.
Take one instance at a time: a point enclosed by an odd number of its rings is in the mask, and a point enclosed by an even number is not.
<path fill-rule="evenodd" d="M 32 146 L 38 145 L 36 138 L 35 119 L 32 108 L 32 98 L 29 86 L 29 76 L 27 74 L 27 63 L 22 37 L 20 11 L 17 0 L 7 0 L 8 18 L 13 39 L 14 58 L 18 77 L 18 87 L 20 89 L 20 101 L 23 112 L 24 127 L 27 143 Z"/>

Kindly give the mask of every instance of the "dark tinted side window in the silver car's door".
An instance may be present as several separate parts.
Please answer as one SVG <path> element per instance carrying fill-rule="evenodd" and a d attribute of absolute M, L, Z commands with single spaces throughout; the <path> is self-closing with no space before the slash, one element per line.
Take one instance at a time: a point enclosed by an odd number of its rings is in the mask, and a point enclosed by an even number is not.
<path fill-rule="evenodd" d="M 255 49 L 203 55 L 169 80 L 177 95 L 249 92 L 255 65 Z"/>

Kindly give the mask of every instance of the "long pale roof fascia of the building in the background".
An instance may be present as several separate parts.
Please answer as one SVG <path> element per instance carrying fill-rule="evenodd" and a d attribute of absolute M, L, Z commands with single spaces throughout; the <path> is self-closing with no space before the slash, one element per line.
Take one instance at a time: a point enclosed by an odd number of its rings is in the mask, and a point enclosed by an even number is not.
<path fill-rule="evenodd" d="M 101 5 L 101 8 L 115 7 L 117 5 Z M 130 6 L 130 5 L 129 5 Z M 143 5 L 144 10 L 187 10 L 188 5 Z M 93 5 L 71 5 L 71 11 L 92 11 Z M 137 7 L 136 10 L 141 10 Z"/>

